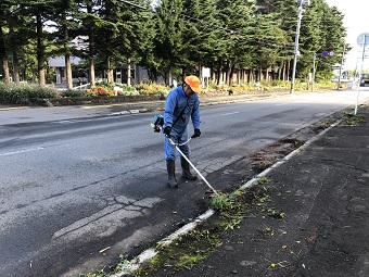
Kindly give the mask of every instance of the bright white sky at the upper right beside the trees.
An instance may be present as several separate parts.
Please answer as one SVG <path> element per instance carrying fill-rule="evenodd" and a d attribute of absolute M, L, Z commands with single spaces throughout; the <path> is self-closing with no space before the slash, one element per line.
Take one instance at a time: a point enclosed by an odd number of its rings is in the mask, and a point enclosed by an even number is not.
<path fill-rule="evenodd" d="M 326 0 L 326 2 L 331 7 L 335 5 L 345 15 L 343 24 L 347 30 L 346 42 L 353 50 L 346 56 L 344 70 L 355 70 L 356 65 L 359 70 L 361 59 L 358 58 L 362 56 L 362 52 L 356 40 L 360 34 L 369 34 L 369 0 Z M 364 68 L 369 68 L 367 59 Z"/>

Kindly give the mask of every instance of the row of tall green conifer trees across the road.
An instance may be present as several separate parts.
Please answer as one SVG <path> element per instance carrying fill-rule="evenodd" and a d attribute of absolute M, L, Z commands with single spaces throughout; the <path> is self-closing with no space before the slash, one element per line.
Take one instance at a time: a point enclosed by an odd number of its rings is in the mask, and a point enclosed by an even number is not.
<path fill-rule="evenodd" d="M 300 1 L 298 1 L 300 2 Z M 71 56 L 85 61 L 91 87 L 117 64 L 145 67 L 151 79 L 209 67 L 212 79 L 289 80 L 297 8 L 293 0 L 1 0 L 0 61 L 4 81 L 47 84 L 47 59 L 64 56 L 72 88 Z M 296 77 L 328 79 L 345 45 L 343 14 L 325 0 L 304 7 Z M 80 43 L 71 43 L 79 38 Z M 345 50 L 344 50 L 345 49 Z M 323 51 L 333 56 L 323 58 Z M 129 70 L 129 68 L 128 68 Z M 272 74 L 272 76 L 268 76 Z M 129 75 L 128 75 L 129 76 Z M 129 79 L 129 78 L 128 78 Z"/>

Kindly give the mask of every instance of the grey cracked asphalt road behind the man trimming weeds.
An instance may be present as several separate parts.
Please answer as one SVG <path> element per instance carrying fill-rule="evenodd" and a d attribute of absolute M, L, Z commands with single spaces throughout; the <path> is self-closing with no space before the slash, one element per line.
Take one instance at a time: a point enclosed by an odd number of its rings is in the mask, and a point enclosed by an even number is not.
<path fill-rule="evenodd" d="M 338 91 L 202 108 L 191 161 L 216 189 L 229 189 L 233 162 L 355 100 L 355 91 Z M 0 122 L 0 276 L 87 274 L 206 210 L 203 181 L 166 187 L 153 113 L 80 109 L 0 111 L 11 118 Z"/>

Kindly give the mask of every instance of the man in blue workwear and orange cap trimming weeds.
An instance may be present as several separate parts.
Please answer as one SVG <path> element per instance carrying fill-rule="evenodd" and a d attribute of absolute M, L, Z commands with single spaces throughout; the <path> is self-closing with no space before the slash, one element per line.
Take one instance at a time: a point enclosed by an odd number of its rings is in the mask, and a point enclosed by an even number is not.
<path fill-rule="evenodd" d="M 196 76 L 187 76 L 184 83 L 169 91 L 165 111 L 164 111 L 164 125 L 163 131 L 165 137 L 165 160 L 168 172 L 168 186 L 177 188 L 178 182 L 176 179 L 176 147 L 173 146 L 168 138 L 174 143 L 183 143 L 188 140 L 188 125 L 190 117 L 192 121 L 194 134 L 192 138 L 200 137 L 200 101 L 198 92 L 201 91 L 200 79 Z M 190 156 L 189 144 L 178 146 L 180 151 L 187 156 Z M 179 154 L 180 155 L 180 154 Z M 189 180 L 198 179 L 196 176 L 190 172 L 189 162 L 180 155 L 182 167 L 182 177 Z"/>

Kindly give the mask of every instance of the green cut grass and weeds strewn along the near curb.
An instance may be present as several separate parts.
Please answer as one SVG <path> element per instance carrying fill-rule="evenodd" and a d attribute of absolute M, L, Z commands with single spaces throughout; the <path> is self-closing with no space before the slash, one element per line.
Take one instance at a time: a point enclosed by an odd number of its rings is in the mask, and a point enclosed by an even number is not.
<path fill-rule="evenodd" d="M 264 181 L 267 180 L 260 180 Z M 132 273 L 132 276 L 152 276 L 158 270 L 169 276 L 170 273 L 191 269 L 222 244 L 224 234 L 239 227 L 249 215 L 251 205 L 265 203 L 269 192 L 268 188 L 256 186 L 251 189 L 240 188 L 232 194 L 219 192 L 213 196 L 208 205 L 216 211 L 216 215 L 171 244 L 157 245 L 158 254 L 149 265 Z"/>

